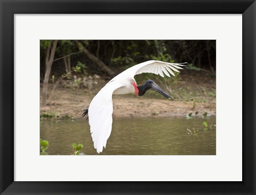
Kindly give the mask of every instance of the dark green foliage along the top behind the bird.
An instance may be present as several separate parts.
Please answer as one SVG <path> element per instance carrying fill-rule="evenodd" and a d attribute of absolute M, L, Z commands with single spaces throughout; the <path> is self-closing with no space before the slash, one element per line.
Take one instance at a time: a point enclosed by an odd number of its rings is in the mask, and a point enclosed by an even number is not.
<path fill-rule="evenodd" d="M 45 55 L 51 40 L 41 40 L 41 81 L 45 73 Z M 148 60 L 188 62 L 190 69 L 206 70 L 215 74 L 215 40 L 83 40 L 79 41 L 91 54 L 116 74 L 128 67 Z M 71 55 L 70 55 L 71 54 Z M 84 64 L 90 75 L 109 77 L 95 65 L 73 40 L 59 40 L 54 59 L 69 55 L 71 67 Z M 51 75 L 66 73 L 62 58 L 54 61 Z M 85 72 L 83 72 L 85 73 Z"/>

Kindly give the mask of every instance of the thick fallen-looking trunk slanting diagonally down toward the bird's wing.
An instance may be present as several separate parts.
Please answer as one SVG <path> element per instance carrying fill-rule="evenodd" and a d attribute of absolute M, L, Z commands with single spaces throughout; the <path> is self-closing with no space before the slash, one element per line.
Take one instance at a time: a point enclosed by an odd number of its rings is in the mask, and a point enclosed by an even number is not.
<path fill-rule="evenodd" d="M 115 72 L 111 70 L 105 63 L 99 60 L 96 56 L 94 56 L 89 50 L 87 50 L 79 41 L 75 40 L 78 47 L 82 47 L 84 54 L 93 62 L 95 65 L 99 67 L 100 70 L 113 77 Z"/>

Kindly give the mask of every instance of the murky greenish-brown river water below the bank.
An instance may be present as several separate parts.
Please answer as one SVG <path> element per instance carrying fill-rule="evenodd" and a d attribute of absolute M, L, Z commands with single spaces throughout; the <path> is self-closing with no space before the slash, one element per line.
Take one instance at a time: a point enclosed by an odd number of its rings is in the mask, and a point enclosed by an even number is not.
<path fill-rule="evenodd" d="M 114 119 L 107 146 L 100 155 L 215 155 L 216 129 L 205 130 L 208 118 Z M 193 128 L 199 129 L 191 134 Z M 93 147 L 88 121 L 43 121 L 40 136 L 49 141 L 49 155 L 71 155 L 72 143 L 82 143 L 85 155 L 98 155 Z"/>

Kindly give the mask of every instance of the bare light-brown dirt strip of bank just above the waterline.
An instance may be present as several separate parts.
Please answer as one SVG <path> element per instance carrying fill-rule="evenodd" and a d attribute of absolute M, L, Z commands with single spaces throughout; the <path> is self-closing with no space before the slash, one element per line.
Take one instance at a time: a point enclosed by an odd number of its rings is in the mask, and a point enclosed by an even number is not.
<path fill-rule="evenodd" d="M 85 89 L 66 90 L 59 88 L 54 91 L 51 106 L 41 106 L 41 114 L 57 112 L 60 115 L 81 118 L 82 109 L 89 106 L 93 96 Z M 113 103 L 114 117 L 175 117 L 186 116 L 196 111 L 199 112 L 199 115 L 204 112 L 215 115 L 215 101 L 199 103 L 137 97 L 135 95 L 114 95 Z"/>

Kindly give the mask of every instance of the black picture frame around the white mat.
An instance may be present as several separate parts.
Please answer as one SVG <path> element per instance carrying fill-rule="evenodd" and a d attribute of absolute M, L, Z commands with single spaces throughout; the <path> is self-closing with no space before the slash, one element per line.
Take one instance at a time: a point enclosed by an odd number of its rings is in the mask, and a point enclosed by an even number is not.
<path fill-rule="evenodd" d="M 1 194 L 255 194 L 254 0 L 26 1 L 0 0 Z M 242 182 L 16 182 L 14 181 L 14 14 L 243 14 Z M 227 73 L 229 74 L 229 73 Z M 134 175 L 135 177 L 135 175 Z"/>

